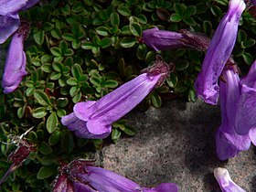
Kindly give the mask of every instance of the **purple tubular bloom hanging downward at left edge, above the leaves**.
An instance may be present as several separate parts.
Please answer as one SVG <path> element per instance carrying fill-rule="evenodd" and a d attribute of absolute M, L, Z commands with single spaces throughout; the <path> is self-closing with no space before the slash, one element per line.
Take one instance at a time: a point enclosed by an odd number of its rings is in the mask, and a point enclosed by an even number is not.
<path fill-rule="evenodd" d="M 5 93 L 15 91 L 23 77 L 27 75 L 23 40 L 23 36 L 16 33 L 9 45 L 2 80 Z"/>

